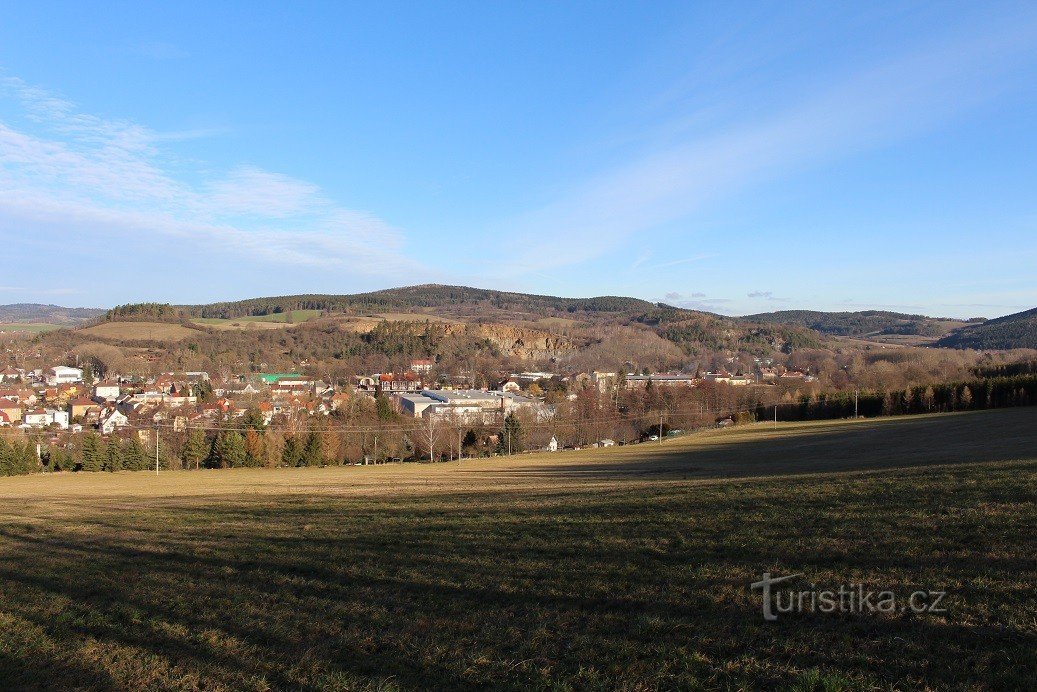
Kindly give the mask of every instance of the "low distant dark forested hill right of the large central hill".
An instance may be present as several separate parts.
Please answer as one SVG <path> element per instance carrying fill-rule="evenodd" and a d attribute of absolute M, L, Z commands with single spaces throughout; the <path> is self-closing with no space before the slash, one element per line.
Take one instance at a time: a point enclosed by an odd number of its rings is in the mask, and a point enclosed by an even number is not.
<path fill-rule="evenodd" d="M 860 312 L 780 310 L 778 312 L 748 314 L 742 320 L 805 327 L 835 336 L 901 334 L 935 337 L 970 324 L 961 320 L 929 317 L 924 314 L 905 314 L 885 310 L 863 310 Z"/>

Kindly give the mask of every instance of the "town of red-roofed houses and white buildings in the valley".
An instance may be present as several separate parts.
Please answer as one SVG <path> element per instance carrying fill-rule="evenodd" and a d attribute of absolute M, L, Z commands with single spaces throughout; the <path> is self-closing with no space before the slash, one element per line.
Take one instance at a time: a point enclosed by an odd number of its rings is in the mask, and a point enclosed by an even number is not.
<path fill-rule="evenodd" d="M 0 371 L 0 426 L 25 431 L 119 431 L 205 427 L 258 411 L 265 425 L 311 416 L 331 416 L 363 397 L 384 398 L 394 415 L 450 419 L 488 425 L 522 412 L 549 420 L 560 400 L 593 388 L 601 394 L 620 389 L 694 389 L 704 383 L 730 387 L 809 383 L 814 378 L 761 361 L 755 372 L 641 373 L 592 371 L 572 375 L 527 371 L 502 377 L 492 388 L 474 388 L 464 377 L 437 375 L 430 359 L 413 360 L 398 373 L 357 376 L 352 383 L 330 383 L 300 372 L 242 373 L 228 378 L 204 371 L 151 377 L 109 375 L 95 380 L 89 368 L 55 365 Z M 302 368 L 301 368 L 302 369 Z"/>

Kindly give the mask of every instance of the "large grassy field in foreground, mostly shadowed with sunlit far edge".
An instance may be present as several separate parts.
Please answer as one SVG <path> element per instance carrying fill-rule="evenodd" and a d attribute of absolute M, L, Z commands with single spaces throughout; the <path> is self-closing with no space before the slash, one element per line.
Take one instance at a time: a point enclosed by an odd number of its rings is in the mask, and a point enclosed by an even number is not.
<path fill-rule="evenodd" d="M 0 479 L 0 688 L 1027 689 L 1037 409 Z M 767 622 L 763 572 L 942 614 Z"/>

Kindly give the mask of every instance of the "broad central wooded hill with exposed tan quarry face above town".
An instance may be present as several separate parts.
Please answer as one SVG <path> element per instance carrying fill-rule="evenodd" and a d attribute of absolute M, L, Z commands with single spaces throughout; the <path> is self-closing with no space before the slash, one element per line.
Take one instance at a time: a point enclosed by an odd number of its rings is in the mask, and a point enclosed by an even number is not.
<path fill-rule="evenodd" d="M 108 334 L 93 329 L 89 335 L 157 347 L 168 339 L 142 326 L 172 323 L 200 330 L 184 345 L 196 354 L 224 359 L 233 353 L 235 362 L 245 357 L 269 362 L 281 354 L 327 365 L 381 354 L 399 359 L 449 357 L 454 362 L 477 356 L 580 357 L 574 367 L 630 362 L 654 369 L 680 366 L 689 357 L 736 352 L 764 356 L 820 344 L 818 335 L 804 328 L 756 324 L 636 298 L 561 298 L 439 284 L 207 305 L 121 305 L 109 310 L 105 321 L 127 328 Z M 60 338 L 73 347 L 68 339 L 75 336 Z"/>

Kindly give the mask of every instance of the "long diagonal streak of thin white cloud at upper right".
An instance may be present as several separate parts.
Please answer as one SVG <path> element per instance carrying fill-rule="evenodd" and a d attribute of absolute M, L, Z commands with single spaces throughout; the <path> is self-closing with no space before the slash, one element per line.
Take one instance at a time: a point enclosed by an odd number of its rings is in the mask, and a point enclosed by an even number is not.
<path fill-rule="evenodd" d="M 604 170 L 555 202 L 502 224 L 515 239 L 512 256 L 518 264 L 537 258 L 555 267 L 584 261 L 749 185 L 956 117 L 1002 93 L 1007 87 L 1000 78 L 1033 60 L 1037 17 L 1020 12 L 996 21 L 843 75 L 797 103 L 709 133 L 683 133 L 665 148 Z"/>

